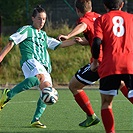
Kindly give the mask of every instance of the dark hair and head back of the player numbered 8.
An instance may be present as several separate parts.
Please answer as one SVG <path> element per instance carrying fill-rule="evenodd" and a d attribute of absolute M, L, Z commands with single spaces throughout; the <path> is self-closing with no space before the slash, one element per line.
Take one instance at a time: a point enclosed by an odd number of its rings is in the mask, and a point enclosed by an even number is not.
<path fill-rule="evenodd" d="M 104 5 L 109 10 L 118 10 L 122 4 L 123 0 L 103 0 Z"/>

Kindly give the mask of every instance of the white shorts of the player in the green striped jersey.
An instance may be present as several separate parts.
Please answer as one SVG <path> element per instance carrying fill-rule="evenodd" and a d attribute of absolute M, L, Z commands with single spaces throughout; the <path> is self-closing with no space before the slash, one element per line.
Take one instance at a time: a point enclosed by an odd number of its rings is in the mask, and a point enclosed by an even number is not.
<path fill-rule="evenodd" d="M 29 59 L 23 63 L 22 71 L 25 78 L 34 77 L 37 74 L 44 74 L 45 80 L 48 81 L 52 86 L 52 79 L 50 74 L 46 71 L 45 67 L 40 64 L 36 59 Z"/>

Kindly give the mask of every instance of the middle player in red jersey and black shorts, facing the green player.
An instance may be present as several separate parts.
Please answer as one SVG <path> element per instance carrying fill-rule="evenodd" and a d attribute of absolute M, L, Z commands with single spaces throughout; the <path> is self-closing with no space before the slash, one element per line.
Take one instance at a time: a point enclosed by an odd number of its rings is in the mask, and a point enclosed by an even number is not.
<path fill-rule="evenodd" d="M 83 32 L 84 37 L 75 37 L 76 41 L 81 45 L 90 45 L 91 47 L 94 36 L 94 21 L 100 14 L 92 12 L 91 0 L 75 0 L 75 7 L 77 15 L 79 16 L 77 26 L 68 35 L 59 35 L 58 38 L 69 39 Z M 101 57 L 99 57 L 99 63 L 101 60 L 102 54 Z M 98 79 L 98 73 L 90 70 L 89 63 L 78 70 L 70 80 L 69 89 L 73 93 L 77 104 L 87 114 L 87 119 L 79 124 L 81 127 L 90 127 L 100 122 L 92 108 L 90 99 L 83 90 L 83 87 L 94 84 Z"/>

